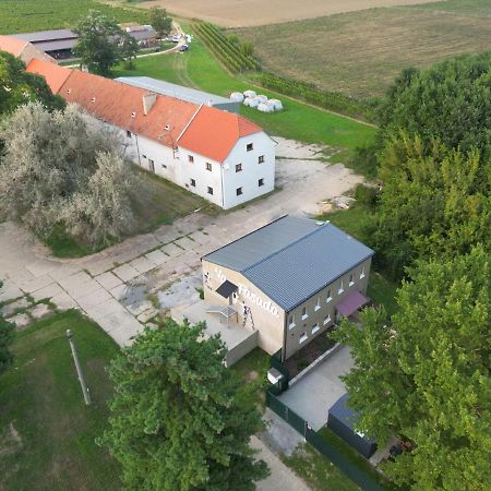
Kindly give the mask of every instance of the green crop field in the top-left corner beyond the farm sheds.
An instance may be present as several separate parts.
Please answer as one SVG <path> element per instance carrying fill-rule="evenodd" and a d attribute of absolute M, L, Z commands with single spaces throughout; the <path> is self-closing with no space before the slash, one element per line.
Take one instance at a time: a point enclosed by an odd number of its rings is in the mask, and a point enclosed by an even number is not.
<path fill-rule="evenodd" d="M 119 22 L 146 22 L 145 11 L 112 8 L 95 0 L 0 0 L 0 34 L 72 27 L 91 9 Z"/>

